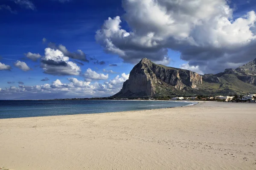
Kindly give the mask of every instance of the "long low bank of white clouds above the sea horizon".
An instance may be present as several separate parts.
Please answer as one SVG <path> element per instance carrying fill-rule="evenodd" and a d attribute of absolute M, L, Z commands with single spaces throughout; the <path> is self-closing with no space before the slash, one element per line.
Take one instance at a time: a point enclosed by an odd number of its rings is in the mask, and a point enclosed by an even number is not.
<path fill-rule="evenodd" d="M 0 99 L 55 99 L 55 98 L 85 98 L 93 96 L 112 96 L 119 91 L 122 82 L 127 79 L 126 74 L 116 77 L 110 82 L 100 84 L 68 78 L 68 83 L 56 79 L 51 84 L 18 87 L 11 86 L 0 90 Z M 116 87 L 116 88 L 113 88 Z"/>

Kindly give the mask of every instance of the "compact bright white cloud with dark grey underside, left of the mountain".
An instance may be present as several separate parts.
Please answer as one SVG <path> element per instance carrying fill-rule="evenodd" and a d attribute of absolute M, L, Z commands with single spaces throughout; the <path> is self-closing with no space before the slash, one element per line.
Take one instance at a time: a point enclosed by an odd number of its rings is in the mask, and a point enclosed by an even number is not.
<path fill-rule="evenodd" d="M 81 68 L 76 63 L 69 61 L 60 50 L 45 48 L 45 56 L 41 59 L 41 68 L 44 73 L 52 75 L 79 75 Z"/>

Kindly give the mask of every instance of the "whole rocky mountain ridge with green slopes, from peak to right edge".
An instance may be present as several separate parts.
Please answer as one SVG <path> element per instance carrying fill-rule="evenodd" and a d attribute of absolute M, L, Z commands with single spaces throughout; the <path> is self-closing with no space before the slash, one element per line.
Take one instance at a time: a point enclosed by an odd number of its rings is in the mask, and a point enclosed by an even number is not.
<path fill-rule="evenodd" d="M 219 74 L 205 74 L 158 65 L 142 59 L 122 90 L 113 97 L 213 96 L 256 93 L 256 59 Z"/>

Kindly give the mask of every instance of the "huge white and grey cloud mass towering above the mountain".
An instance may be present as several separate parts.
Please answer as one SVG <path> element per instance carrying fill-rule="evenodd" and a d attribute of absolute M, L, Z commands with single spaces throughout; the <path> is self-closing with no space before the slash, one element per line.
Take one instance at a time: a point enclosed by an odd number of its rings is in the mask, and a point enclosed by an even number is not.
<path fill-rule="evenodd" d="M 226 0 L 123 0 L 130 32 L 119 16 L 105 20 L 96 41 L 124 62 L 147 57 L 168 64 L 168 49 L 203 72 L 223 71 L 255 58 L 256 14 L 238 18 Z"/>

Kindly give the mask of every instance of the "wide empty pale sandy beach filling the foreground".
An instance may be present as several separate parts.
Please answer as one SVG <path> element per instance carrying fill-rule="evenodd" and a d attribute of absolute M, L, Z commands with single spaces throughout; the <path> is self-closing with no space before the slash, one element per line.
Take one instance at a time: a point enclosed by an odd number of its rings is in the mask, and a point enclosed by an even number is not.
<path fill-rule="evenodd" d="M 13 170 L 253 170 L 256 104 L 0 119 Z"/>

